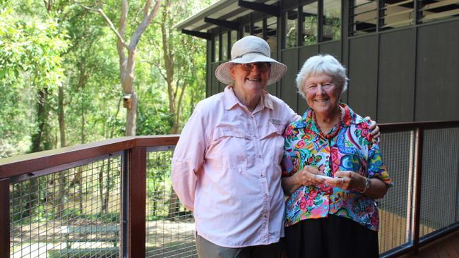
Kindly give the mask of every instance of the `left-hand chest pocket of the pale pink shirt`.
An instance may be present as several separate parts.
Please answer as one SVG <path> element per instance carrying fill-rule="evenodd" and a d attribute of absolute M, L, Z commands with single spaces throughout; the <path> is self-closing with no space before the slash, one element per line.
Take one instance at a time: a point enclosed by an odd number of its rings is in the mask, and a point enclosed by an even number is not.
<path fill-rule="evenodd" d="M 251 136 L 240 128 L 217 126 L 205 159 L 217 168 L 246 168 L 250 141 Z"/>

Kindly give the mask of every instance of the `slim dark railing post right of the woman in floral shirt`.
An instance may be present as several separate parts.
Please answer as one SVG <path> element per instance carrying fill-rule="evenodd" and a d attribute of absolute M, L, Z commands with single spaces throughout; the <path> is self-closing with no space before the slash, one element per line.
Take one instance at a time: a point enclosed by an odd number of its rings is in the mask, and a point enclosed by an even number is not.
<path fill-rule="evenodd" d="M 421 217 L 421 187 L 422 187 L 422 146 L 424 143 L 424 128 L 417 128 L 416 137 L 416 181 L 415 181 L 415 228 L 413 232 L 413 250 L 415 254 L 419 251 L 419 231 L 420 231 L 420 217 Z"/>

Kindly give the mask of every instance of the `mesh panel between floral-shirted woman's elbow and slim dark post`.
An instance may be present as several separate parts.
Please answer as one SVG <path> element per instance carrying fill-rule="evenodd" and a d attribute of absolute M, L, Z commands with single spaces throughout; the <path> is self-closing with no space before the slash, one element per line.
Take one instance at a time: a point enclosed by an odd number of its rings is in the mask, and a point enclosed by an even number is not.
<path fill-rule="evenodd" d="M 415 159 L 415 132 L 385 133 L 381 137 L 384 163 L 393 181 L 383 199 L 378 200 L 380 212 L 379 252 L 383 253 L 412 238 L 412 183 Z"/>

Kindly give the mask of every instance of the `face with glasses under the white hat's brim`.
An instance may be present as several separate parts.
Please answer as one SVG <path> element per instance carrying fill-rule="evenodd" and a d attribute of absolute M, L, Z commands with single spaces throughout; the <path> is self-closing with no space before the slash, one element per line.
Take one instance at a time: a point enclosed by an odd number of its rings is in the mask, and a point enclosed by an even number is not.
<path fill-rule="evenodd" d="M 234 80 L 234 90 L 247 96 L 260 94 L 268 84 L 271 73 L 270 68 L 262 70 L 258 65 L 253 66 L 251 70 L 244 70 L 242 65 L 234 64 L 230 68 L 231 78 Z"/>

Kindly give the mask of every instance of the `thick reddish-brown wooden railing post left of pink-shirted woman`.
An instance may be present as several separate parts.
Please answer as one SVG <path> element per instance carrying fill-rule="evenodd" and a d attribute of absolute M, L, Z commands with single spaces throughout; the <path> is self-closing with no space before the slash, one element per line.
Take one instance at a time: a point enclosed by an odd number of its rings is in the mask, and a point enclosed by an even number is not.
<path fill-rule="evenodd" d="M 127 257 L 145 257 L 146 147 L 130 149 L 127 155 Z M 126 190 L 126 188 L 124 188 Z M 124 234 L 126 236 L 126 234 Z"/>

